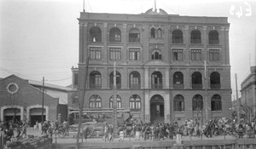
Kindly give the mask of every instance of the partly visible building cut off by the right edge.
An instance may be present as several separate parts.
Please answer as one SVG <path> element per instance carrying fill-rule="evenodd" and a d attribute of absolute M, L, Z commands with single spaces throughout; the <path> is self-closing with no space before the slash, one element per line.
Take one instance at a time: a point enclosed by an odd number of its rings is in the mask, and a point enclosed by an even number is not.
<path fill-rule="evenodd" d="M 256 114 L 256 66 L 251 66 L 250 71 L 241 83 L 241 109 L 248 119 Z"/>

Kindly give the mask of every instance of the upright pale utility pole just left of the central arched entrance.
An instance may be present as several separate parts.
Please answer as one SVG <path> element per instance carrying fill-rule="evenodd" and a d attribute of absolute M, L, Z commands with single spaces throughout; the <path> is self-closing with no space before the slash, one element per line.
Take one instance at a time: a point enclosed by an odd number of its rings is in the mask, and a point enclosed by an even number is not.
<path fill-rule="evenodd" d="M 113 137 L 117 137 L 117 89 L 116 89 L 116 67 L 113 62 Z"/>

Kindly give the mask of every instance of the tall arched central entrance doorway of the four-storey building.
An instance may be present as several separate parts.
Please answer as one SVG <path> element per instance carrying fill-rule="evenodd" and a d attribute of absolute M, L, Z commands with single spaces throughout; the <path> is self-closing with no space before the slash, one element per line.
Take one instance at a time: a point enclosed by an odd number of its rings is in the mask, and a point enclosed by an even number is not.
<path fill-rule="evenodd" d="M 161 95 L 154 95 L 150 99 L 150 122 L 165 122 L 165 100 Z"/>

